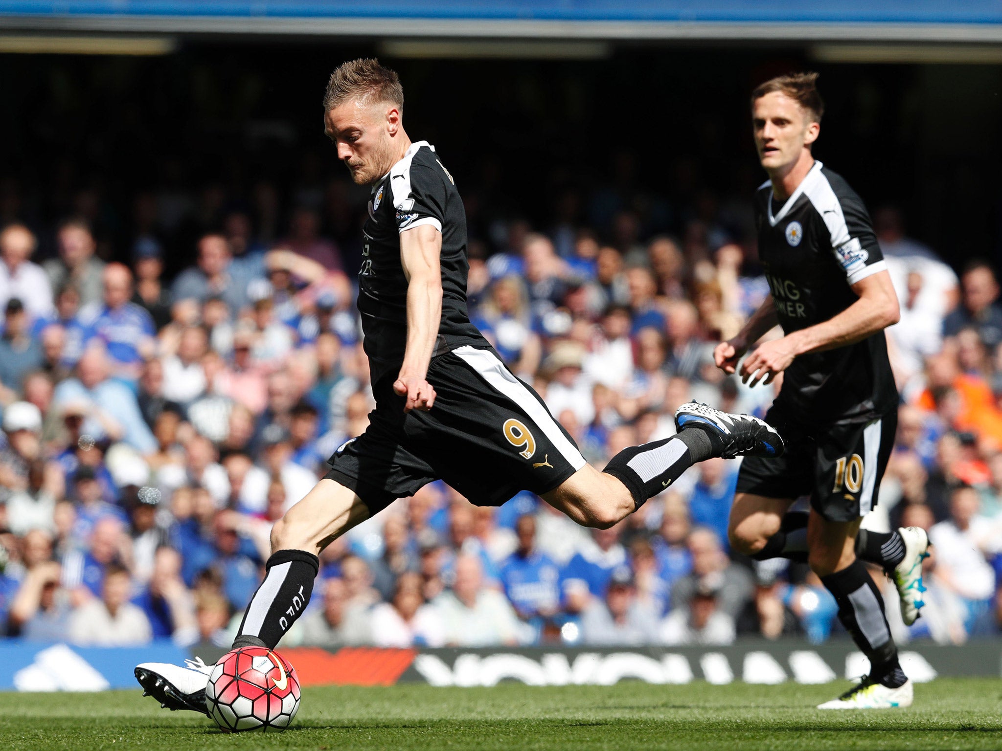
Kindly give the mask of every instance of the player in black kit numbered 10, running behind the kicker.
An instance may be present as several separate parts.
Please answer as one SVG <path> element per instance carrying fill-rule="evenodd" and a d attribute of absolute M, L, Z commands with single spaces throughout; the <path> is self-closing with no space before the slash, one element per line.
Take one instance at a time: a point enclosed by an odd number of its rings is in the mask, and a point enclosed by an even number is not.
<path fill-rule="evenodd" d="M 784 373 L 766 421 L 788 449 L 775 462 L 741 464 L 728 532 L 734 549 L 755 559 L 810 563 L 870 659 L 870 675 L 820 709 L 907 707 L 912 683 L 863 561 L 892 575 L 912 624 L 929 541 L 918 528 L 860 530 L 894 444 L 898 391 L 883 329 L 898 321 L 898 298 L 863 201 L 811 153 L 824 107 L 817 77 L 774 78 L 752 94 L 756 147 L 770 176 L 755 209 L 772 294 L 714 357 L 734 372 L 750 349 L 739 374 L 753 385 Z M 785 335 L 753 349 L 777 323 Z M 676 421 L 686 417 L 680 411 Z M 810 496 L 810 514 L 788 514 L 801 496 Z"/>

